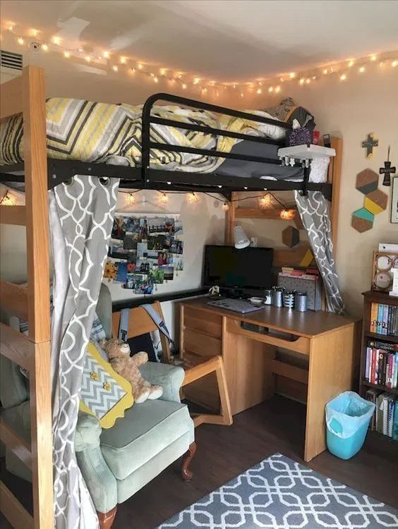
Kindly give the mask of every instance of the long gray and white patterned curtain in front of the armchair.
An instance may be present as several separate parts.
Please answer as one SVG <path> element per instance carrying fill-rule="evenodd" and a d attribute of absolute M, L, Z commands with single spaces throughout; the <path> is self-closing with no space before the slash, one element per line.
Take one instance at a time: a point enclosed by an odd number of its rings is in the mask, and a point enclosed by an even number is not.
<path fill-rule="evenodd" d="M 85 350 L 100 293 L 119 180 L 75 176 L 49 192 L 54 256 L 52 399 L 54 527 L 93 529 L 97 514 L 76 463 L 74 438 Z"/>

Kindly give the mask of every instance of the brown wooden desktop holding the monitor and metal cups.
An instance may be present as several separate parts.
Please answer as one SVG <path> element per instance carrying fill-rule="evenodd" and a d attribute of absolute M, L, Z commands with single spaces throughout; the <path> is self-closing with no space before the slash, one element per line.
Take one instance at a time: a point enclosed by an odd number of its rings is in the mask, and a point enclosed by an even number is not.
<path fill-rule="evenodd" d="M 207 310 L 212 314 L 227 316 L 233 320 L 240 320 L 252 324 L 262 325 L 263 327 L 271 327 L 284 332 L 291 332 L 299 336 L 319 336 L 320 334 L 327 334 L 335 329 L 346 327 L 358 321 L 358 318 L 344 317 L 332 312 L 313 311 L 298 312 L 287 308 L 272 307 L 264 305 L 264 308 L 251 312 L 250 314 L 241 315 L 238 312 L 231 310 L 222 310 L 211 305 L 207 305 L 207 297 L 195 299 L 191 301 L 183 301 L 181 305 L 184 307 L 193 307 L 197 309 Z"/>

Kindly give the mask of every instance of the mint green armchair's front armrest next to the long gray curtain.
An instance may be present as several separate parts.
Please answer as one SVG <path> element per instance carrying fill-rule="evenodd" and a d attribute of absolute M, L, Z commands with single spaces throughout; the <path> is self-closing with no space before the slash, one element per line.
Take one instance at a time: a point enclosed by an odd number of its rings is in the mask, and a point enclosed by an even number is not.
<path fill-rule="evenodd" d="M 117 505 L 116 478 L 107 466 L 100 447 L 100 421 L 80 412 L 75 435 L 76 459 L 95 510 L 107 513 Z"/>

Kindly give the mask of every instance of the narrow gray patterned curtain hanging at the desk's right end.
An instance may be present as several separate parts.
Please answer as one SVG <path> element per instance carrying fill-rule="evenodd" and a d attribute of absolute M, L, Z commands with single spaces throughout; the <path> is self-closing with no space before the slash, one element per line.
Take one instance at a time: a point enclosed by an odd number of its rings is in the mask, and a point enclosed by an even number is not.
<path fill-rule="evenodd" d="M 320 191 L 308 191 L 307 197 L 295 191 L 294 198 L 323 279 L 326 308 L 330 312 L 342 314 L 344 303 L 339 291 L 339 278 L 333 257 L 329 202 Z"/>

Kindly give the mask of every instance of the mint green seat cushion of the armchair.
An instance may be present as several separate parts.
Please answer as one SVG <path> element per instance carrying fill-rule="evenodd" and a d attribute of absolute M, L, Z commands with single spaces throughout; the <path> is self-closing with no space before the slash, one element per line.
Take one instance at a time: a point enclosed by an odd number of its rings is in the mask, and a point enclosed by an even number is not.
<path fill-rule="evenodd" d="M 115 478 L 124 480 L 190 430 L 193 422 L 185 404 L 147 400 L 102 430 L 101 450 Z"/>

